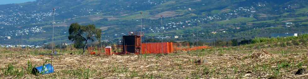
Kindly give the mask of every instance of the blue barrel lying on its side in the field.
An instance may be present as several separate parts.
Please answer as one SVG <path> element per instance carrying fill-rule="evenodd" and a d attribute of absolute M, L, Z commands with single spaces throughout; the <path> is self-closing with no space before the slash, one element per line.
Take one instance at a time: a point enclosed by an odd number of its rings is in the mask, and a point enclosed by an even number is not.
<path fill-rule="evenodd" d="M 32 74 L 40 73 L 40 74 L 49 74 L 53 73 L 54 69 L 51 64 L 45 64 L 44 66 L 35 67 L 32 69 Z"/>

